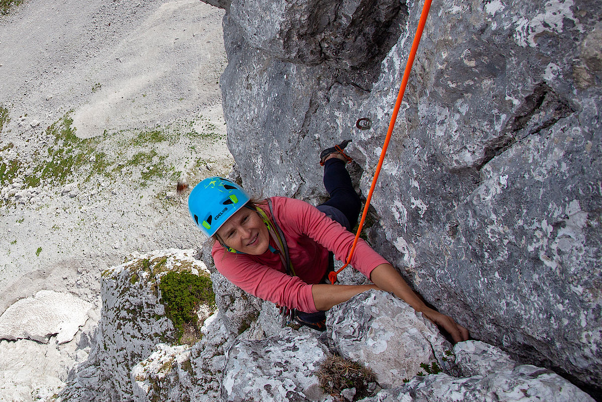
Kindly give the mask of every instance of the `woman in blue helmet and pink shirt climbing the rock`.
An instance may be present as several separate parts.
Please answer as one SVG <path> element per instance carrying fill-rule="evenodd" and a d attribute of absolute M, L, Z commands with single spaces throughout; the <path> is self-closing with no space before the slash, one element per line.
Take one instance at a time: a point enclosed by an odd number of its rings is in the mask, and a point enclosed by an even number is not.
<path fill-rule="evenodd" d="M 350 141 L 324 149 L 326 203 L 313 207 L 286 197 L 251 199 L 237 184 L 210 177 L 197 184 L 188 208 L 200 230 L 215 240 L 211 254 L 228 280 L 263 300 L 285 306 L 299 324 L 324 330 L 324 312 L 368 289 L 382 289 L 406 301 L 455 342 L 468 331 L 452 318 L 424 304 L 383 257 L 359 240 L 352 265 L 373 284 L 340 285 L 327 281 L 329 251 L 346 259 L 355 236 L 350 232 L 361 208 L 345 167 L 343 149 Z"/>

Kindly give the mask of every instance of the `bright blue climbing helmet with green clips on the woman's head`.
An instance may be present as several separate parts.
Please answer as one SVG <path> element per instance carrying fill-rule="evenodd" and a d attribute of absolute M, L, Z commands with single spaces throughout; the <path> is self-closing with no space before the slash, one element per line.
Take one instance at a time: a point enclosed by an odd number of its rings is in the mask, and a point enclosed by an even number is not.
<path fill-rule="evenodd" d="M 223 177 L 208 177 L 190 192 L 188 211 L 199 229 L 211 237 L 249 200 L 238 184 Z"/>

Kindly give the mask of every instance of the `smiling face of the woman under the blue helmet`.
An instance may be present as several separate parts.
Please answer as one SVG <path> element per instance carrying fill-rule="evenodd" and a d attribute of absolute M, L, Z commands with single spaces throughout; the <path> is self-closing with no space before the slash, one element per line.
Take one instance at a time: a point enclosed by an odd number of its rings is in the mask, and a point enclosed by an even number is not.
<path fill-rule="evenodd" d="M 217 231 L 222 241 L 241 253 L 258 256 L 270 245 L 270 233 L 261 216 L 249 208 L 241 208 Z"/>

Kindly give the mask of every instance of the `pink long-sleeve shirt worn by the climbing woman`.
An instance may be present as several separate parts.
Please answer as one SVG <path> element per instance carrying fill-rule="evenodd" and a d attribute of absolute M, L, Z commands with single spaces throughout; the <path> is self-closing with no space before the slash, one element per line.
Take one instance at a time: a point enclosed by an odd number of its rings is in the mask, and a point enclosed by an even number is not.
<path fill-rule="evenodd" d="M 297 276 L 287 275 L 280 257 L 272 251 L 259 256 L 228 253 L 217 242 L 211 250 L 216 268 L 236 286 L 256 297 L 303 312 L 317 312 L 311 288 L 326 274 L 328 250 L 338 260 L 346 260 L 355 235 L 304 201 L 285 197 L 270 199 Z M 274 219 L 267 204 L 259 207 Z M 359 239 L 351 265 L 370 278 L 370 272 L 382 263 L 388 262 Z"/>

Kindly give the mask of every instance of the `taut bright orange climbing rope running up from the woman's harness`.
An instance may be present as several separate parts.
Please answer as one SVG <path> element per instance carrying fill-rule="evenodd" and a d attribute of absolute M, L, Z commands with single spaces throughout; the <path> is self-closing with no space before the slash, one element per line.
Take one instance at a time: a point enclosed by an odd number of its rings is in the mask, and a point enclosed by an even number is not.
<path fill-rule="evenodd" d="M 395 121 L 397 120 L 397 114 L 399 113 L 399 107 L 402 105 L 403 94 L 406 92 L 406 86 L 408 85 L 408 78 L 410 72 L 412 70 L 412 64 L 414 64 L 414 58 L 416 57 L 416 52 L 418 51 L 418 45 L 420 44 L 420 39 L 422 37 L 422 31 L 424 30 L 424 24 L 426 24 L 426 17 L 429 15 L 430 3 L 432 0 L 426 0 L 422 7 L 422 13 L 420 14 L 420 20 L 418 21 L 418 28 L 416 29 L 416 34 L 414 35 L 414 42 L 412 42 L 412 49 L 410 50 L 410 54 L 408 56 L 408 63 L 406 63 L 406 69 L 403 72 L 403 80 L 402 85 L 399 88 L 399 93 L 397 94 L 397 102 L 395 103 L 395 107 L 393 108 L 393 115 L 391 116 L 391 122 L 389 122 L 389 130 L 386 133 L 385 143 L 382 146 L 382 151 L 380 151 L 380 159 L 378 161 L 378 165 L 376 166 L 376 172 L 374 172 L 374 178 L 372 179 L 372 186 L 370 186 L 370 192 L 368 192 L 368 196 L 366 197 L 366 204 L 364 206 L 364 213 L 362 213 L 362 219 L 359 221 L 358 233 L 355 234 L 355 240 L 353 240 L 353 245 L 351 247 L 351 251 L 349 252 L 349 256 L 347 257 L 347 262 L 341 269 L 338 271 L 330 272 L 328 274 L 328 278 L 330 283 L 335 283 L 337 281 L 337 275 L 345 269 L 347 265 L 351 262 L 353 257 L 353 252 L 355 251 L 355 247 L 358 244 L 359 234 L 362 231 L 362 227 L 364 226 L 364 221 L 366 219 L 366 215 L 368 215 L 368 207 L 370 206 L 370 199 L 372 198 L 372 193 L 374 192 L 374 187 L 376 187 L 376 181 L 378 181 L 378 176 L 380 174 L 380 168 L 382 168 L 383 160 L 385 160 L 386 148 L 389 146 L 389 140 L 391 140 L 391 134 L 393 133 L 393 128 L 395 127 Z"/>

